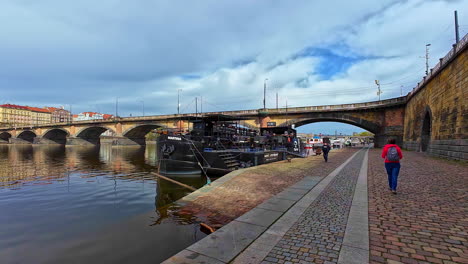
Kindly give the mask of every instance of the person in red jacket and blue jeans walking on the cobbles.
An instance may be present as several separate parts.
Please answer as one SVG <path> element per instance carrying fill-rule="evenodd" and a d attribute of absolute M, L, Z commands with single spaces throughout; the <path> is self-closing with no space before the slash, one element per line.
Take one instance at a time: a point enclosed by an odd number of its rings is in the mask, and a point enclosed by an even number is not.
<path fill-rule="evenodd" d="M 385 159 L 385 169 L 388 175 L 388 187 L 396 194 L 398 174 L 400 173 L 400 160 L 403 158 L 400 147 L 395 144 L 394 138 L 389 138 L 387 145 L 382 150 L 382 158 Z"/>

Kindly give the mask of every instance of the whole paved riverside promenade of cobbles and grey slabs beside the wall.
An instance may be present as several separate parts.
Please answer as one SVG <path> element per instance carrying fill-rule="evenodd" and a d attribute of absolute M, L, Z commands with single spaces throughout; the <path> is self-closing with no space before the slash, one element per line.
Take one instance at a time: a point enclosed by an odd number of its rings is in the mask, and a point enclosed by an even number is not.
<path fill-rule="evenodd" d="M 305 176 L 164 263 L 468 263 L 466 164 L 404 152 L 394 195 L 380 151 Z"/>

